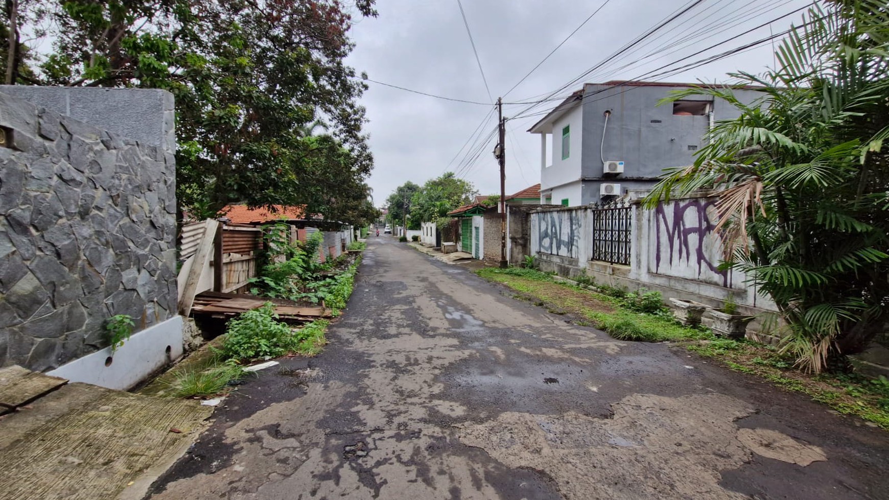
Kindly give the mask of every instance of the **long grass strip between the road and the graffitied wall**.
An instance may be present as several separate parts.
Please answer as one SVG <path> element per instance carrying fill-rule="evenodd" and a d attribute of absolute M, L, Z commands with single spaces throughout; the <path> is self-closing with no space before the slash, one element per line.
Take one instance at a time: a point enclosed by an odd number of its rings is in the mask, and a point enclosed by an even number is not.
<path fill-rule="evenodd" d="M 533 269 L 485 268 L 477 274 L 518 292 L 535 306 L 572 313 L 583 326 L 603 329 L 619 340 L 677 342 L 688 351 L 719 361 L 739 373 L 759 377 L 788 391 L 805 393 L 843 415 L 861 417 L 889 430 L 889 379 L 858 375 L 808 376 L 794 369 L 792 359 L 771 345 L 715 337 L 708 329 L 687 328 L 659 307 L 651 292 L 598 286 L 598 293 L 558 283 L 551 274 Z M 582 282 L 581 282 L 582 283 Z M 585 283 L 583 283 L 585 284 Z M 606 295 L 607 294 L 607 295 Z M 640 310 L 647 312 L 640 313 Z"/>

